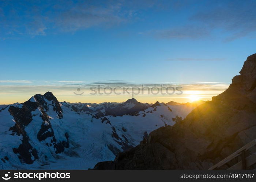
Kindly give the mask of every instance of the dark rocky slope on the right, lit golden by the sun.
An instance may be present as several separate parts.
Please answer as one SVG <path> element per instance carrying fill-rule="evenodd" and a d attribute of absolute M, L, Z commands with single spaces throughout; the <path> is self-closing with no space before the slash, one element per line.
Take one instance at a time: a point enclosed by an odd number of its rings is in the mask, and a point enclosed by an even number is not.
<path fill-rule="evenodd" d="M 256 139 L 255 87 L 256 54 L 247 58 L 225 92 L 94 169 L 208 169 Z M 255 152 L 255 148 L 248 151 Z M 223 169 L 233 164 L 231 161 Z"/>

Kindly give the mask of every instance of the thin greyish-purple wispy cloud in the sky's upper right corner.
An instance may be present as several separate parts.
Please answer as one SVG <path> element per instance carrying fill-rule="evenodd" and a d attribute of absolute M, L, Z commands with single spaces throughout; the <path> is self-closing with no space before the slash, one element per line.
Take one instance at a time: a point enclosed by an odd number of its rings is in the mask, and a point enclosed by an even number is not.
<path fill-rule="evenodd" d="M 191 17 L 191 21 L 206 24 L 212 30 L 221 29 L 228 32 L 230 35 L 225 38 L 226 41 L 247 36 L 256 32 L 256 1 L 244 2 L 241 3 L 239 0 L 214 2 L 213 8 L 197 12 Z"/>

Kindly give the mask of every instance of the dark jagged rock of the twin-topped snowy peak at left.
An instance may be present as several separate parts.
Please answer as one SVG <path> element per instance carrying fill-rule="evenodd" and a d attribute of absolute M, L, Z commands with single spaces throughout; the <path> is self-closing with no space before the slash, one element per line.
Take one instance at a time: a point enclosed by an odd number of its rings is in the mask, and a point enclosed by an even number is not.
<path fill-rule="evenodd" d="M 12 135 L 22 136 L 22 143 L 17 148 L 13 148 L 13 152 L 18 154 L 21 162 L 32 164 L 36 159 L 38 159 L 38 151 L 31 145 L 30 137 L 27 134 L 25 128 L 32 122 L 33 117 L 38 114 L 33 114 L 38 110 L 41 114 L 41 128 L 37 133 L 37 139 L 39 142 L 45 141 L 47 138 L 49 142 L 46 143 L 47 146 L 53 146 L 56 154 L 62 153 L 64 148 L 68 148 L 68 134 L 65 134 L 66 141 L 57 141 L 52 129 L 49 116 L 47 111 L 49 107 L 56 112 L 57 118 L 63 118 L 62 109 L 56 97 L 52 92 L 46 92 L 44 95 L 37 94 L 34 95 L 30 100 L 19 104 L 18 106 L 10 106 L 8 111 L 13 116 L 15 125 L 12 126 L 9 131 Z"/>

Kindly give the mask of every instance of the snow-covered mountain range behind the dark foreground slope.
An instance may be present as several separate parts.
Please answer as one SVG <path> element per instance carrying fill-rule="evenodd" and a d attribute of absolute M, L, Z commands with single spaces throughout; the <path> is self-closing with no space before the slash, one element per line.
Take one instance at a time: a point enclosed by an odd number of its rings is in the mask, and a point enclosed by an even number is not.
<path fill-rule="evenodd" d="M 200 104 L 201 102 L 197 103 Z M 88 169 L 173 126 L 194 104 L 59 102 L 47 92 L 0 105 L 0 169 Z"/>

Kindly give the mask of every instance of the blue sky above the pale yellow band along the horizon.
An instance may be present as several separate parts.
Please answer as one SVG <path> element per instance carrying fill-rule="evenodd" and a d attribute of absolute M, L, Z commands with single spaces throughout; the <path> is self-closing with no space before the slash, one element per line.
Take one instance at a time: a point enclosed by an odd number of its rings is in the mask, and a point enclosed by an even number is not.
<path fill-rule="evenodd" d="M 229 84 L 255 53 L 255 5 L 251 0 L 2 0 L 0 86 L 6 91 L 11 85 L 78 81 Z M 1 96 L 12 95 L 2 91 Z"/>

